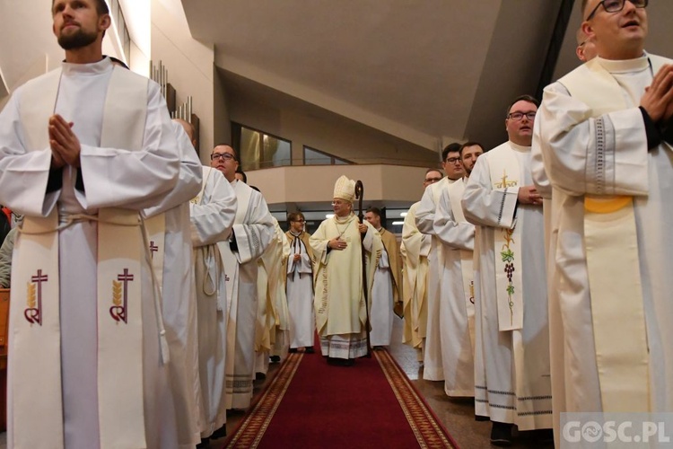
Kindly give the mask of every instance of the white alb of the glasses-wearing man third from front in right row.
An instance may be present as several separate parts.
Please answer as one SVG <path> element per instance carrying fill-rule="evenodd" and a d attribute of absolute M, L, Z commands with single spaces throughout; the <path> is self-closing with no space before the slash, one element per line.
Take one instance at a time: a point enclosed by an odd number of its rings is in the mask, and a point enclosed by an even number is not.
<path fill-rule="evenodd" d="M 441 348 L 441 321 L 440 315 L 446 313 L 447 307 L 442 307 L 441 279 L 449 273 L 441 267 L 441 241 L 434 233 L 434 216 L 437 203 L 440 200 L 442 189 L 453 183 L 447 177 L 425 188 L 421 204 L 416 209 L 416 227 L 421 233 L 432 236 L 431 250 L 428 254 L 428 282 L 427 304 L 428 315 L 424 346 L 423 378 L 428 381 L 443 381 L 444 368 L 442 362 L 443 348 Z"/>

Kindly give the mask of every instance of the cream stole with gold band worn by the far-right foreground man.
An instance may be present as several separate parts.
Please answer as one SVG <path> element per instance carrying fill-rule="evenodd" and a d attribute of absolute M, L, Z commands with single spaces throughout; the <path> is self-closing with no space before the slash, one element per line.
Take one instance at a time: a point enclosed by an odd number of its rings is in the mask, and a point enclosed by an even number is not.
<path fill-rule="evenodd" d="M 655 56 L 650 60 L 655 74 L 666 63 Z M 560 82 L 572 97 L 591 107 L 593 117 L 628 108 L 622 88 L 598 58 Z M 634 198 L 585 195 L 584 241 L 603 411 L 650 411 Z"/>

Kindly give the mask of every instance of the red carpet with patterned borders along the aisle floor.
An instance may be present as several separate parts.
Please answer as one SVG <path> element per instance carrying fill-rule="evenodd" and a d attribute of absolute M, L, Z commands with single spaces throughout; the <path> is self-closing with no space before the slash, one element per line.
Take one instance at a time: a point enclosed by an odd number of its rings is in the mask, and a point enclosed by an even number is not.
<path fill-rule="evenodd" d="M 388 351 L 354 366 L 291 354 L 225 447 L 458 447 Z"/>

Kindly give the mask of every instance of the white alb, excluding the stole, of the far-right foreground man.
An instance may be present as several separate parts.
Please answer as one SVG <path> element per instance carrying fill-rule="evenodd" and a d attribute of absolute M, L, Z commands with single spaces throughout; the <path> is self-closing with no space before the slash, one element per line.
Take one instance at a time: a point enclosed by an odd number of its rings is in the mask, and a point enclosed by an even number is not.
<path fill-rule="evenodd" d="M 561 348 L 552 355 L 556 426 L 556 413 L 603 410 L 584 249 L 585 195 L 634 196 L 650 360 L 650 379 L 640 382 L 649 383 L 651 411 L 673 410 L 673 328 L 669 325 L 673 264 L 667 256 L 673 247 L 669 238 L 673 167 L 670 145 L 662 142 L 648 151 L 638 109 L 652 80 L 649 59 L 647 55 L 625 61 L 596 58 L 609 74 L 607 81 L 621 91 L 624 110 L 597 114 L 573 98 L 564 84 L 555 83 L 546 87 L 538 112 L 534 141 L 540 146 L 558 205 L 552 224 L 557 229 L 555 260 L 550 268 L 557 273 L 552 286 L 557 295 L 550 303 L 552 341 Z M 577 70 L 587 79 L 593 76 L 585 66 Z M 628 299 L 614 297 L 616 306 Z M 627 392 L 634 385 L 622 387 Z"/>

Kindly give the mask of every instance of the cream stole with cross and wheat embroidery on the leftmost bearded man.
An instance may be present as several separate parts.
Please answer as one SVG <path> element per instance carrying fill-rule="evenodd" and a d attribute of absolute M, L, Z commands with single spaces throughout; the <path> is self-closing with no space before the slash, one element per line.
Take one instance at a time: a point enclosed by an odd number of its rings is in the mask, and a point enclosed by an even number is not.
<path fill-rule="evenodd" d="M 61 71 L 33 81 L 22 94 L 29 151 L 48 148 L 48 118 L 57 101 Z M 124 98 L 125 101 L 116 101 Z M 139 150 L 147 113 L 147 80 L 115 68 L 103 111 L 101 146 Z M 123 129 L 124 132 L 120 132 Z M 137 211 L 101 208 L 99 215 L 64 217 L 99 222 L 98 391 L 101 447 L 145 447 L 143 394 L 142 222 Z M 13 436 L 16 447 L 57 447 L 63 442 L 61 397 L 57 207 L 47 217 L 24 219 L 12 289 Z M 20 286 L 25 285 L 26 288 Z M 155 302 L 160 331 L 160 305 Z M 168 362 L 162 339 L 162 359 Z M 21 354 L 21 356 L 19 356 Z M 123 382 L 123 383 L 122 383 Z M 122 386 L 123 385 L 123 386 Z M 35 407 L 35 403 L 43 404 Z M 36 434 L 35 428 L 39 428 Z M 119 429 L 123 428 L 123 432 Z"/>

